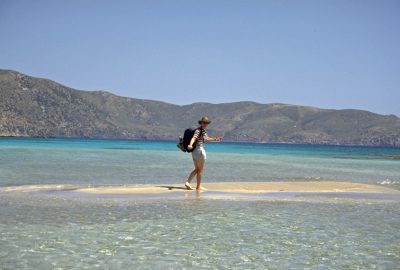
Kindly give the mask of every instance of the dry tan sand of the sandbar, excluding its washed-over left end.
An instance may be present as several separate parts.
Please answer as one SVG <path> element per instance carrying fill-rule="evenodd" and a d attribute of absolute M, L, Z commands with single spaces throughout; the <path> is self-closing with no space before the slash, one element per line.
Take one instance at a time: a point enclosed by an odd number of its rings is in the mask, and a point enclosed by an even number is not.
<path fill-rule="evenodd" d="M 315 182 L 219 182 L 204 183 L 207 191 L 224 193 L 277 193 L 277 192 L 359 192 L 400 194 L 395 190 L 383 186 L 333 181 Z M 167 192 L 187 192 L 183 184 L 166 185 L 124 185 L 124 186 L 94 186 L 77 188 L 75 192 L 86 194 L 162 194 Z"/>

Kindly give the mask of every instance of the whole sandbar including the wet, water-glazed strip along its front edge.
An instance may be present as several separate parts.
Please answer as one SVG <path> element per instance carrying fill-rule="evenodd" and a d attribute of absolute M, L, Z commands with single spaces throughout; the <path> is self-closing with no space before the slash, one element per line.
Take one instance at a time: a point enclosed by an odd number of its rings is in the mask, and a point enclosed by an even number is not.
<path fill-rule="evenodd" d="M 400 200 L 400 190 L 379 185 L 314 181 L 314 182 L 219 182 L 204 183 L 205 191 L 187 190 L 183 184 L 136 185 L 23 185 L 0 187 L 0 194 L 52 195 L 78 199 L 373 199 Z M 24 195 L 25 196 L 25 195 Z M 95 200 L 93 200 L 95 201 Z"/>

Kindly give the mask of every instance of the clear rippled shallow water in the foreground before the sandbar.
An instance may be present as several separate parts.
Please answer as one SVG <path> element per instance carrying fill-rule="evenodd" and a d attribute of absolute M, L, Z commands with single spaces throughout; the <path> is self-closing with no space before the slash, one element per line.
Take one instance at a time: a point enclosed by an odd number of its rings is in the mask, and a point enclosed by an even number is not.
<path fill-rule="evenodd" d="M 398 201 L 0 197 L 0 269 L 397 269 Z"/>

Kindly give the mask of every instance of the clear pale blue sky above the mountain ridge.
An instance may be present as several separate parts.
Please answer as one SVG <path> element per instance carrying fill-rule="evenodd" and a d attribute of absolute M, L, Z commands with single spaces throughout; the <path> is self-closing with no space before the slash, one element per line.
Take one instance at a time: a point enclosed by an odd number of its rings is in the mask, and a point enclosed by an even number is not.
<path fill-rule="evenodd" d="M 398 0 L 0 0 L 0 52 L 82 90 L 400 115 Z"/>

